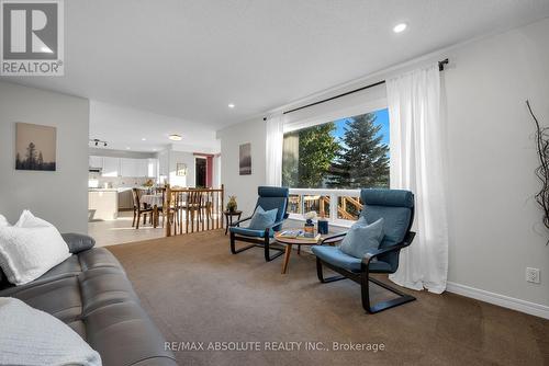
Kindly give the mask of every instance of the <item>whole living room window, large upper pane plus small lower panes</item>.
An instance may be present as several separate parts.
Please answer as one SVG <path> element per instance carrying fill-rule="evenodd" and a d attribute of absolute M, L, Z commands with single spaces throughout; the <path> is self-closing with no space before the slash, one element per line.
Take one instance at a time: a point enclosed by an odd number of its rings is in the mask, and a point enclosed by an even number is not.
<path fill-rule="evenodd" d="M 314 210 L 348 225 L 362 208 L 359 188 L 389 187 L 389 163 L 386 108 L 284 134 L 282 184 L 290 187 L 291 217 Z"/>

